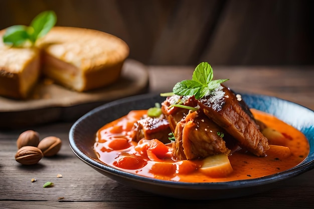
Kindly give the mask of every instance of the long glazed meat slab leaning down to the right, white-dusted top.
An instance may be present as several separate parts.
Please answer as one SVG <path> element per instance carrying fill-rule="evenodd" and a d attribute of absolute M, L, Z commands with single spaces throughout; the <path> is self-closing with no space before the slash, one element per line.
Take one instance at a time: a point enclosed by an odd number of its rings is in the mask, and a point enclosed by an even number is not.
<path fill-rule="evenodd" d="M 199 106 L 207 117 L 232 135 L 239 146 L 256 156 L 265 156 L 269 149 L 267 138 L 260 132 L 254 119 L 243 110 L 236 95 L 221 86 L 214 95 L 198 100 Z"/>

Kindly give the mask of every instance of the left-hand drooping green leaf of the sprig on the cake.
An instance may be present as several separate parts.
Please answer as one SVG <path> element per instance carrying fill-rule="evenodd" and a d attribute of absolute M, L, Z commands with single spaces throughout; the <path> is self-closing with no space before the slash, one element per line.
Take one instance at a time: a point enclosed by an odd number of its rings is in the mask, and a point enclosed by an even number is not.
<path fill-rule="evenodd" d="M 13 47 L 22 46 L 29 39 L 26 26 L 11 26 L 3 36 L 3 42 Z"/>

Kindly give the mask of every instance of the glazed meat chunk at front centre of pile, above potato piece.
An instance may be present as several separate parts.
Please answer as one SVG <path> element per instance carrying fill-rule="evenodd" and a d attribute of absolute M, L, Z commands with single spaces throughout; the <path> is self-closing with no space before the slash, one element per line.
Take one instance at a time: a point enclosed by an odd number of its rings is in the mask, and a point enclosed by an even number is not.
<path fill-rule="evenodd" d="M 176 127 L 173 157 L 176 160 L 205 158 L 214 154 L 230 153 L 221 137 L 224 130 L 203 112 L 190 111 Z"/>

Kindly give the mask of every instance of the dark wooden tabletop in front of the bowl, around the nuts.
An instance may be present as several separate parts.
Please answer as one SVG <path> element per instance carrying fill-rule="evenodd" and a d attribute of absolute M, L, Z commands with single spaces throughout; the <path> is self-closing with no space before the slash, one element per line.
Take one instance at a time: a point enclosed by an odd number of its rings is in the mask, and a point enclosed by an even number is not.
<path fill-rule="evenodd" d="M 56 157 L 43 158 L 35 166 L 23 166 L 14 160 L 16 138 L 22 131 L 0 132 L 0 207 L 1 208 L 160 208 L 173 207 L 226 208 L 312 208 L 314 171 L 279 183 L 264 193 L 226 200 L 192 201 L 162 197 L 121 185 L 80 161 L 68 144 L 71 123 L 58 123 L 35 128 L 41 137 L 55 135 L 63 140 Z M 61 173 L 62 178 L 57 178 Z M 32 178 L 36 182 L 31 182 Z M 55 186 L 43 188 L 46 181 Z M 263 202 L 263 204 L 259 204 Z"/>

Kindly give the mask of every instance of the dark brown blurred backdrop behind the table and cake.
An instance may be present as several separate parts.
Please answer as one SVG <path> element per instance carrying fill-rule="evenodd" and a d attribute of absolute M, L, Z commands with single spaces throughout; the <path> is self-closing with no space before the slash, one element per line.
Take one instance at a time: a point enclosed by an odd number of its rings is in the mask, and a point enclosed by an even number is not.
<path fill-rule="evenodd" d="M 0 29 L 42 11 L 113 34 L 149 65 L 312 65 L 314 1 L 0 0 Z"/>

